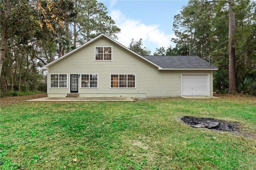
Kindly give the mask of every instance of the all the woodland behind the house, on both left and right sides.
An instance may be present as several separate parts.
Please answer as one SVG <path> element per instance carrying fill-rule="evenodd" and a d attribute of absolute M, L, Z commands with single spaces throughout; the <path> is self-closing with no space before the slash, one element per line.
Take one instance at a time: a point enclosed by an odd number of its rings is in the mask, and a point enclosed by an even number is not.
<path fill-rule="evenodd" d="M 230 29 L 230 16 L 235 29 Z M 116 39 L 120 32 L 106 6 L 96 0 L 0 0 L 0 19 L 2 92 L 46 90 L 41 66 L 100 33 Z M 176 46 L 160 47 L 154 55 L 198 55 L 219 68 L 214 90 L 256 94 L 255 1 L 190 0 L 174 16 L 173 31 Z M 151 54 L 142 39 L 132 39 L 129 48 Z M 230 90 L 232 54 L 236 89 Z"/>

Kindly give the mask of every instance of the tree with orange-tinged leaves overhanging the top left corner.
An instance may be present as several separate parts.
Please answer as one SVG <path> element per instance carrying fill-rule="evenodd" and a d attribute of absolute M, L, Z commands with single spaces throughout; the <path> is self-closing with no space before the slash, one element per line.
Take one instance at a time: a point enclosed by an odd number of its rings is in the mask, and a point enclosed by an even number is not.
<path fill-rule="evenodd" d="M 74 15 L 69 9 L 71 0 L 1 1 L 0 73 L 8 41 L 14 37 L 16 44 L 26 45 L 39 39 L 55 39 L 63 30 L 63 22 Z M 69 5 L 67 5 L 69 4 Z"/>

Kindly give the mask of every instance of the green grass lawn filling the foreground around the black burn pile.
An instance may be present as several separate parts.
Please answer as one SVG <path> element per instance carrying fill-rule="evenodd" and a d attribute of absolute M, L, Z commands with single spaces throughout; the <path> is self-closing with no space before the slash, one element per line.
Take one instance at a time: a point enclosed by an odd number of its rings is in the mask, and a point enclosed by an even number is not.
<path fill-rule="evenodd" d="M 1 106 L 0 169 L 256 169 L 255 138 L 194 129 L 182 115 L 256 135 L 253 99 L 21 102 Z"/>

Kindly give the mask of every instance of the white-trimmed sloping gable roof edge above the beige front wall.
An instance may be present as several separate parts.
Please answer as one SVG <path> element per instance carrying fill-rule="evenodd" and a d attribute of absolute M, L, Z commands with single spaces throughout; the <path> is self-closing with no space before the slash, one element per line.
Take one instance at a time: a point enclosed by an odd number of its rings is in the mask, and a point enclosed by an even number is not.
<path fill-rule="evenodd" d="M 97 36 L 97 37 L 95 37 L 94 39 L 91 39 L 90 41 L 88 41 L 88 42 L 84 43 L 83 45 L 81 45 L 81 46 L 77 47 L 76 49 L 74 49 L 74 50 L 70 51 L 69 53 L 66 53 L 66 54 L 65 54 L 65 55 L 63 55 L 62 57 L 60 57 L 60 58 L 58 58 L 58 59 L 56 59 L 56 60 L 52 61 L 51 63 L 48 63 L 48 64 L 46 64 L 45 66 L 42 66 L 42 67 L 41 67 L 41 69 L 43 69 L 43 70 L 48 70 L 48 67 L 49 67 L 50 65 L 52 65 L 52 64 L 54 64 L 54 63 L 56 63 L 56 62 L 58 62 L 58 61 L 60 61 L 60 60 L 62 60 L 62 59 L 64 59 L 64 58 L 68 57 L 70 54 L 72 54 L 72 53 L 74 53 L 74 52 L 78 51 L 79 49 L 82 49 L 82 48 L 83 48 L 83 47 L 85 47 L 86 45 L 89 45 L 90 43 L 92 43 L 92 42 L 96 41 L 97 39 L 99 39 L 99 38 L 101 38 L 101 37 L 106 37 L 106 38 L 107 38 L 107 39 L 109 39 L 110 41 L 112 41 L 112 42 L 116 43 L 117 45 L 120 45 L 120 46 L 121 46 L 121 47 L 123 47 L 124 49 L 126 49 L 126 50 L 130 51 L 131 53 L 133 53 L 133 54 L 137 55 L 137 56 L 138 56 L 138 57 L 140 57 L 141 59 L 143 59 L 143 60 L 147 61 L 147 62 L 148 62 L 148 63 L 150 63 L 150 64 L 153 64 L 154 66 L 158 67 L 158 69 L 160 69 L 160 66 L 158 66 L 157 64 L 152 63 L 152 62 L 151 62 L 151 61 L 149 61 L 148 59 L 146 59 L 146 58 L 142 57 L 141 55 L 139 55 L 139 54 L 135 53 L 134 51 L 132 51 L 132 50 L 128 49 L 128 48 L 127 48 L 127 47 L 125 47 L 124 45 L 122 45 L 122 44 L 118 43 L 116 40 L 114 40 L 114 39 L 112 39 L 112 38 L 108 37 L 107 35 L 105 35 L 105 34 L 103 34 L 103 33 L 102 33 L 102 34 L 100 34 L 100 35 L 98 35 L 98 36 Z"/>

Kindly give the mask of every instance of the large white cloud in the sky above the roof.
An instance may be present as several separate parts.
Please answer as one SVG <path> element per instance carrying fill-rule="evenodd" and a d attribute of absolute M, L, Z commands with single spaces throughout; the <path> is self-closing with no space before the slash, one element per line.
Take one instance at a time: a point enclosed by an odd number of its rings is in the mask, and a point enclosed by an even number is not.
<path fill-rule="evenodd" d="M 118 42 L 128 47 L 131 39 L 138 41 L 140 38 L 143 40 L 143 44 L 152 51 L 155 51 L 158 47 L 169 47 L 174 43 L 171 42 L 172 38 L 175 38 L 174 33 L 167 34 L 159 29 L 159 25 L 151 24 L 146 25 L 140 20 L 132 20 L 127 18 L 120 12 L 120 10 L 112 10 L 110 12 L 111 18 L 116 22 L 116 26 L 121 29 L 121 33 L 118 36 Z"/>

